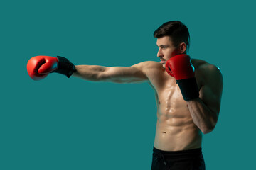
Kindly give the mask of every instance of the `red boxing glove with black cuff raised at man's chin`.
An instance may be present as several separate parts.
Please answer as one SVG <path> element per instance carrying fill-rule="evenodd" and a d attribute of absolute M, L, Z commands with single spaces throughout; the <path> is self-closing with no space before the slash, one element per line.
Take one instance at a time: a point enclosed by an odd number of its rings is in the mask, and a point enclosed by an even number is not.
<path fill-rule="evenodd" d="M 189 55 L 176 55 L 166 62 L 166 72 L 176 79 L 185 101 L 199 96 L 194 70 Z"/>

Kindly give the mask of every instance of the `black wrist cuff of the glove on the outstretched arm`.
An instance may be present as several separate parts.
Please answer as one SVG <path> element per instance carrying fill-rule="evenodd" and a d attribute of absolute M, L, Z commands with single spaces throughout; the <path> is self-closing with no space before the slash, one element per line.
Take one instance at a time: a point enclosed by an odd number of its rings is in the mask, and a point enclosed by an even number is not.
<path fill-rule="evenodd" d="M 58 58 L 58 69 L 53 72 L 64 74 L 68 78 L 70 78 L 73 72 L 76 72 L 75 65 L 65 57 L 57 56 L 57 58 Z"/>

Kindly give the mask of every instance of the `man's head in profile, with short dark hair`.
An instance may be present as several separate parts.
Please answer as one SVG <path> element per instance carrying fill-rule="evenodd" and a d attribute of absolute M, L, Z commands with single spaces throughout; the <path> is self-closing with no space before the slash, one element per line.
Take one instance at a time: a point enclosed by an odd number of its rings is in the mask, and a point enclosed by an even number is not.
<path fill-rule="evenodd" d="M 154 37 L 157 38 L 157 56 L 160 57 L 161 64 L 165 64 L 174 55 L 188 53 L 190 36 L 188 28 L 181 21 L 163 23 L 155 30 Z"/>

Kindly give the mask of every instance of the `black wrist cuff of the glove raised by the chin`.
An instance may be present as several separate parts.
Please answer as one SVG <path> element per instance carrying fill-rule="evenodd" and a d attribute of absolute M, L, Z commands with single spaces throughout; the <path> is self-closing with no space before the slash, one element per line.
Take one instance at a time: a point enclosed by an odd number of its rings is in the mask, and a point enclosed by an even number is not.
<path fill-rule="evenodd" d="M 176 82 L 181 89 L 181 94 L 185 101 L 189 101 L 199 97 L 199 90 L 196 84 L 195 77 L 177 80 Z"/>

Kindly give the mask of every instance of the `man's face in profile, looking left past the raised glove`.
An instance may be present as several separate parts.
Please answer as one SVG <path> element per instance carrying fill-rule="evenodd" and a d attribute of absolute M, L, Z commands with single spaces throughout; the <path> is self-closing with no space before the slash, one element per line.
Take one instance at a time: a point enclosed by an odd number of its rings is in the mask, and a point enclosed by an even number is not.
<path fill-rule="evenodd" d="M 159 47 L 157 57 L 160 57 L 160 63 L 163 64 L 163 67 L 165 68 L 166 61 L 179 54 L 178 48 L 174 47 L 169 36 L 157 38 L 156 45 Z"/>

